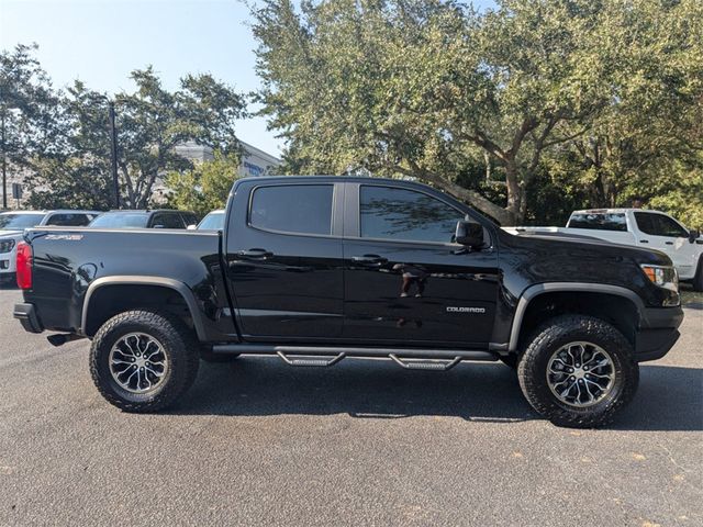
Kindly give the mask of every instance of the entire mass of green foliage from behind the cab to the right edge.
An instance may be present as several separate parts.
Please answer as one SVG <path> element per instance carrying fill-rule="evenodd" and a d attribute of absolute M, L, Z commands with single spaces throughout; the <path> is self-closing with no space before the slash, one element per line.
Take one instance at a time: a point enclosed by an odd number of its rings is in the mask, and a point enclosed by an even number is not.
<path fill-rule="evenodd" d="M 266 0 L 260 100 L 288 169 L 412 176 L 510 224 L 544 218 L 551 184 L 617 202 L 699 147 L 700 2 L 498 3 Z M 468 184 L 477 162 L 503 192 Z"/>

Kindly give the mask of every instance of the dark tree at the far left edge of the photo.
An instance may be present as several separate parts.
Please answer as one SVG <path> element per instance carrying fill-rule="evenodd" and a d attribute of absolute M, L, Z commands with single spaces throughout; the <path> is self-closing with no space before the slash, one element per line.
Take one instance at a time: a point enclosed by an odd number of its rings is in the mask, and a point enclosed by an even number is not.
<path fill-rule="evenodd" d="M 3 203 L 8 206 L 8 170 L 29 171 L 60 155 L 62 109 L 38 61 L 36 45 L 0 52 L 0 162 Z"/>

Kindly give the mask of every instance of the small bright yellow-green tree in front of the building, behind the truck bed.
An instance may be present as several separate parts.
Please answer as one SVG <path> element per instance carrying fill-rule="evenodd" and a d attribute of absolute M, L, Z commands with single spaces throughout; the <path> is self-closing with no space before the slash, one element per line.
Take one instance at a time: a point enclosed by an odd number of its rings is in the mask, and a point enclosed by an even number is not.
<path fill-rule="evenodd" d="M 236 153 L 215 152 L 212 161 L 198 164 L 190 170 L 169 172 L 166 177 L 171 191 L 169 206 L 193 211 L 199 217 L 224 209 L 234 181 L 241 177 L 239 159 Z"/>

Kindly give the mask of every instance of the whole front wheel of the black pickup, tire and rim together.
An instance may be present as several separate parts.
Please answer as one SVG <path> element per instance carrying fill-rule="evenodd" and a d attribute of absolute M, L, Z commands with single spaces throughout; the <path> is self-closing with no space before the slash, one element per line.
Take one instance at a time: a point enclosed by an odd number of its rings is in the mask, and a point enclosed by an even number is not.
<path fill-rule="evenodd" d="M 627 339 L 599 318 L 565 315 L 543 325 L 517 365 L 529 404 L 555 425 L 609 424 L 635 395 L 639 368 Z"/>

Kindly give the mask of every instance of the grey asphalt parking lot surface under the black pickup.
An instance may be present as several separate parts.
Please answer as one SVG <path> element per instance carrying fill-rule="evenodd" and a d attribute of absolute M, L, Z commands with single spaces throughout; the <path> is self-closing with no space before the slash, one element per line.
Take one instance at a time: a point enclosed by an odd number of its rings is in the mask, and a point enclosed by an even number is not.
<path fill-rule="evenodd" d="M 168 413 L 98 395 L 0 291 L 0 525 L 703 525 L 703 305 L 601 430 L 557 428 L 502 365 L 202 365 Z"/>

